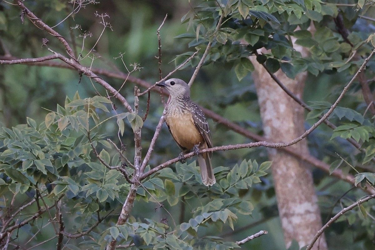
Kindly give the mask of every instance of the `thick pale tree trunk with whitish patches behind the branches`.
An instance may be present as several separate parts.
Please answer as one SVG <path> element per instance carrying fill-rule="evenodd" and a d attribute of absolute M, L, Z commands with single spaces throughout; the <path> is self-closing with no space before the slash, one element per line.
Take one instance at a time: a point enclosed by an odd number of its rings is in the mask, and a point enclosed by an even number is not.
<path fill-rule="evenodd" d="M 296 49 L 305 54 L 303 48 Z M 266 137 L 270 142 L 289 142 L 299 137 L 305 132 L 303 108 L 276 84 L 255 57 L 250 60 L 255 66 L 253 78 Z M 294 80 L 281 70 L 275 75 L 297 97 L 302 98 L 306 73 L 297 75 Z M 300 154 L 309 154 L 305 139 L 290 147 Z M 268 152 L 273 161 L 272 175 L 285 244 L 288 248 L 294 239 L 300 247 L 306 246 L 322 227 L 311 168 L 282 151 L 269 149 Z M 313 249 L 327 249 L 324 235 Z"/>

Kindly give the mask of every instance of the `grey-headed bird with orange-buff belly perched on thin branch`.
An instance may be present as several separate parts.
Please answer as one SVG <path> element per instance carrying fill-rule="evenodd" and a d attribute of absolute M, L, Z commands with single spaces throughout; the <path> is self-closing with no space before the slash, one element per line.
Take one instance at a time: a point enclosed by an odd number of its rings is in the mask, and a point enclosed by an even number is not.
<path fill-rule="evenodd" d="M 189 85 L 177 78 L 171 78 L 156 85 L 169 91 L 165 121 L 182 153 L 212 148 L 207 120 L 198 105 L 191 101 Z M 180 157 L 183 156 L 181 154 Z M 205 186 L 212 186 L 216 183 L 211 165 L 211 154 L 211 152 L 198 153 L 202 182 Z"/>

